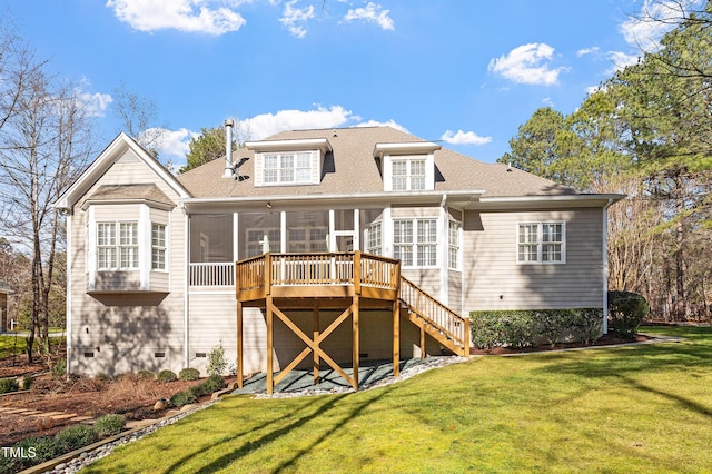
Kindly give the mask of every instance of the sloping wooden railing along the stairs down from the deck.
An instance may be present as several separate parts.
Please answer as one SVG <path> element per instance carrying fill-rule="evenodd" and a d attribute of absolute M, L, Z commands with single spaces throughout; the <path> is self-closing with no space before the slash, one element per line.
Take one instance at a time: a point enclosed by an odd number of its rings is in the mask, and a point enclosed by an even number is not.
<path fill-rule="evenodd" d="M 400 277 L 400 300 L 421 317 L 432 329 L 453 342 L 452 348 L 469 355 L 469 320 L 443 305 L 418 288 L 407 278 Z"/>

